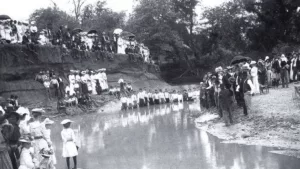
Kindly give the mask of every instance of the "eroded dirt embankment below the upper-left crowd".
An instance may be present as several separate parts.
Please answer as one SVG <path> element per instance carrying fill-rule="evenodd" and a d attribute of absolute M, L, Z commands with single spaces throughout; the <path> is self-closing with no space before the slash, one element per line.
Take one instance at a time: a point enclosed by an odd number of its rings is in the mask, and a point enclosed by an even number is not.
<path fill-rule="evenodd" d="M 57 99 L 46 98 L 43 85 L 34 80 L 41 70 L 54 70 L 63 77 L 68 84 L 69 70 L 78 69 L 107 69 L 108 83 L 117 86 L 119 78 L 132 83 L 133 88 L 156 88 L 168 86 L 163 82 L 155 69 L 142 63 L 133 63 L 127 55 L 112 54 L 102 58 L 100 53 L 86 53 L 88 58 L 73 58 L 80 56 L 78 51 L 64 53 L 56 46 L 1 45 L 0 46 L 0 96 L 9 97 L 11 94 L 19 96 L 19 103 L 29 108 L 44 107 L 51 114 L 57 113 Z M 90 111 L 112 112 L 121 107 L 119 101 L 107 94 L 92 96 L 93 108 L 69 108 L 70 114 L 80 114 Z"/>

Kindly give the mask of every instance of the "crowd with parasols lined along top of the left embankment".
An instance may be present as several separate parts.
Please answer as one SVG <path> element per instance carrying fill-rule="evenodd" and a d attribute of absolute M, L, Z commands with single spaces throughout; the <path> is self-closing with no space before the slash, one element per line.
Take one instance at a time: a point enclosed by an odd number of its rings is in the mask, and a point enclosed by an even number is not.
<path fill-rule="evenodd" d="M 80 28 L 71 30 L 68 26 L 60 26 L 56 31 L 51 24 L 47 28 L 38 30 L 35 21 L 29 23 L 16 20 L 0 20 L 0 44 L 24 44 L 32 45 L 59 45 L 65 49 L 73 49 L 74 58 L 89 57 L 87 51 L 98 52 L 101 57 L 111 55 L 106 53 L 130 54 L 131 60 L 150 62 L 149 49 L 142 43 L 138 43 L 134 36 L 124 38 L 123 30 L 116 29 L 110 36 L 106 32 L 98 35 L 96 30 L 84 32 Z M 78 54 L 79 53 L 79 54 Z"/>

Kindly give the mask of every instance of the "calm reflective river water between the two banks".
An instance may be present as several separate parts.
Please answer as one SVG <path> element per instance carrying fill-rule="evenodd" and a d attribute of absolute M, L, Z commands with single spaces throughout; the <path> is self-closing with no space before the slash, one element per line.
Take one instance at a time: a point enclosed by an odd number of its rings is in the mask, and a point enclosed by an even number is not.
<path fill-rule="evenodd" d="M 297 169 L 300 160 L 269 153 L 274 148 L 223 144 L 195 127 L 190 113 L 199 103 L 159 105 L 113 115 L 74 117 L 78 133 L 78 168 L 82 169 Z M 62 126 L 52 128 L 57 169 Z M 73 163 L 71 163 L 73 164 Z"/>

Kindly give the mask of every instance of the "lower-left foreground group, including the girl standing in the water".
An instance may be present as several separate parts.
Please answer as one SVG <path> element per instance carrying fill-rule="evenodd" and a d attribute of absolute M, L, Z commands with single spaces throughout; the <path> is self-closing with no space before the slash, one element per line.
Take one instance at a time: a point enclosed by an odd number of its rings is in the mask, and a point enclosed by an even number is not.
<path fill-rule="evenodd" d="M 1 169 L 55 169 L 55 146 L 51 141 L 51 125 L 54 121 L 43 118 L 45 111 L 31 110 L 18 105 L 18 97 L 12 95 L 0 106 L 0 168 Z M 63 130 L 62 156 L 77 166 L 78 155 L 72 121 L 61 122 Z"/>

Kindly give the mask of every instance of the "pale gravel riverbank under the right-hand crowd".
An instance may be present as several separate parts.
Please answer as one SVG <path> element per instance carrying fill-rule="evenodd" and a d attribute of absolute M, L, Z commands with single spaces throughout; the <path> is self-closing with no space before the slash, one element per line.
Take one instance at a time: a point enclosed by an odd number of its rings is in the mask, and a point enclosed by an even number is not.
<path fill-rule="evenodd" d="M 203 112 L 195 120 L 199 129 L 223 139 L 224 143 L 278 147 L 274 153 L 300 158 L 300 99 L 294 99 L 294 85 L 287 89 L 270 89 L 266 95 L 252 98 L 248 117 L 235 108 L 234 124 L 226 127 L 222 119 Z"/>

